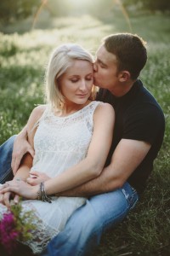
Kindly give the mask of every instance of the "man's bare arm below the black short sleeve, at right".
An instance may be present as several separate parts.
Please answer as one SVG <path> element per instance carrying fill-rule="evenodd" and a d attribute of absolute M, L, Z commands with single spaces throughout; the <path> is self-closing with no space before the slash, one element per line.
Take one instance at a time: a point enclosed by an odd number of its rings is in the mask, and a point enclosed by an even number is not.
<path fill-rule="evenodd" d="M 99 177 L 59 195 L 88 197 L 121 188 L 144 160 L 150 146 L 150 143 L 122 139 L 112 155 L 111 164 L 104 168 Z"/>

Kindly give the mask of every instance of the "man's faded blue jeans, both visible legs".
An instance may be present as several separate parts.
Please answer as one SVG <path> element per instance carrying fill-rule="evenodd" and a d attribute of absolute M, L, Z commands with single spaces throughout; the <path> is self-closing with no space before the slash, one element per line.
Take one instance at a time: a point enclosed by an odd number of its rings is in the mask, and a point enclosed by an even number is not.
<path fill-rule="evenodd" d="M 0 183 L 12 177 L 11 156 L 14 137 L 0 147 Z M 83 256 L 99 245 L 105 230 L 126 218 L 139 197 L 129 183 L 121 189 L 91 197 L 68 219 L 65 230 L 48 243 L 42 256 Z M 57 214 L 56 214 L 57 218 Z"/>

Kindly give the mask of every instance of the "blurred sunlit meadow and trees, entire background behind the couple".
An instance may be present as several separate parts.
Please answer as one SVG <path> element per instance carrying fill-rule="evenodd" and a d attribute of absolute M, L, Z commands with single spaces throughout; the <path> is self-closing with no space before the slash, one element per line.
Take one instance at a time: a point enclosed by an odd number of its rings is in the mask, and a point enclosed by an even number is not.
<path fill-rule="evenodd" d="M 44 71 L 54 47 L 75 42 L 95 55 L 101 39 L 116 32 L 137 33 L 147 42 L 148 62 L 140 79 L 163 109 L 166 132 L 144 201 L 105 233 L 92 255 L 169 256 L 169 0 L 1 0 L 0 144 L 44 102 Z"/>

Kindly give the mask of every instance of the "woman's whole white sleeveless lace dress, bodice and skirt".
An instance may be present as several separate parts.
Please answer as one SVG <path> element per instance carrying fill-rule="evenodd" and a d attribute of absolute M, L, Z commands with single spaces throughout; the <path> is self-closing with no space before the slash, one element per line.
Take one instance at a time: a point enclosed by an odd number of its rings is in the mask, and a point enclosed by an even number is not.
<path fill-rule="evenodd" d="M 76 165 L 86 157 L 93 133 L 93 115 L 99 102 L 90 102 L 66 117 L 57 117 L 48 108 L 39 120 L 34 137 L 35 158 L 31 171 L 45 172 L 55 177 Z M 23 201 L 23 208 L 34 210 L 37 230 L 33 239 L 26 244 L 33 253 L 41 253 L 54 236 L 65 227 L 66 220 L 77 207 L 86 202 L 80 197 L 53 197 L 52 203 L 42 201 Z M 6 207 L 0 206 L 1 213 Z"/>

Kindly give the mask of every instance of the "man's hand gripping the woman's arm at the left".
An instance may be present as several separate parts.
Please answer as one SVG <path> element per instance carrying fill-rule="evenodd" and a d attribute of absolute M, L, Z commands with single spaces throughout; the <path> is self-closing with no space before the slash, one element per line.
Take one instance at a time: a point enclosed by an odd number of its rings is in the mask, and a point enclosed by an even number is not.
<path fill-rule="evenodd" d="M 26 136 L 21 137 L 19 135 L 16 137 L 14 141 L 12 163 L 11 163 L 11 167 L 13 169 L 14 175 L 16 174 L 20 166 L 20 160 L 22 159 L 24 154 L 26 154 L 26 152 L 29 152 L 31 156 L 34 157 L 34 149 L 31 148 L 30 143 L 27 142 Z"/>

